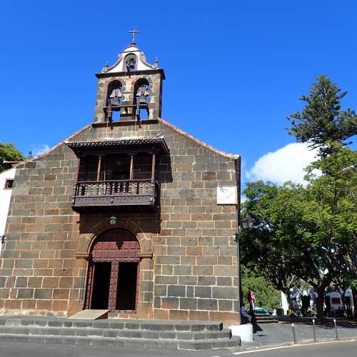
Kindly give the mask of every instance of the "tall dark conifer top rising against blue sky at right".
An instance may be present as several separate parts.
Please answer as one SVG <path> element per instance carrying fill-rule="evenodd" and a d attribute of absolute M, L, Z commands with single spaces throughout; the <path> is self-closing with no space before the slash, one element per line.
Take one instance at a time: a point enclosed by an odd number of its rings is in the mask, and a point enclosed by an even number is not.
<path fill-rule="evenodd" d="M 288 116 L 289 133 L 299 142 L 319 148 L 322 157 L 331 154 L 334 142 L 347 144 L 346 140 L 357 134 L 357 116 L 351 109 L 341 109 L 346 94 L 327 76 L 318 76 L 308 96 L 301 96 L 306 106 Z"/>

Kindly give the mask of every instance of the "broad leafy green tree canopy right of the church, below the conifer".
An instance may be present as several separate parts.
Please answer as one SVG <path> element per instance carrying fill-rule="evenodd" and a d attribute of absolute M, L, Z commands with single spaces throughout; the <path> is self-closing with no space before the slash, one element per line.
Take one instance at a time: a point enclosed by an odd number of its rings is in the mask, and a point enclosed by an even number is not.
<path fill-rule="evenodd" d="M 255 227 L 243 232 L 243 258 L 283 292 L 294 277 L 313 286 L 319 317 L 326 288 L 356 278 L 356 166 L 356 152 L 335 146 L 308 168 L 306 187 L 257 182 L 244 191 Z"/>

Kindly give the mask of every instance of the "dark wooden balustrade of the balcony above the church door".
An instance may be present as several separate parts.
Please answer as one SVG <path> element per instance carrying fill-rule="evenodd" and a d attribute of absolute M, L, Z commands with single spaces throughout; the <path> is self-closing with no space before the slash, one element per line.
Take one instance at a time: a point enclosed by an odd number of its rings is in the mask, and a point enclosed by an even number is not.
<path fill-rule="evenodd" d="M 159 193 L 154 180 L 78 181 L 71 206 L 77 212 L 152 211 L 159 204 Z"/>

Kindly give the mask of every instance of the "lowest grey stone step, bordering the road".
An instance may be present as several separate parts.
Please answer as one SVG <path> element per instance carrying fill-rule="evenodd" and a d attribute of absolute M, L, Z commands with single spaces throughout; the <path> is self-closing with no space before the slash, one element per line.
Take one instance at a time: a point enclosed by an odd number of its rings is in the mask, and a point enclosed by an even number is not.
<path fill-rule="evenodd" d="M 197 341 L 172 341 L 151 340 L 145 338 L 100 338 L 85 336 L 31 336 L 26 334 L 0 334 L 2 342 L 35 342 L 35 343 L 65 343 L 82 346 L 106 347 L 136 347 L 136 348 L 166 348 L 188 351 L 207 351 L 214 349 L 238 348 L 239 338 L 230 340 L 197 340 Z"/>

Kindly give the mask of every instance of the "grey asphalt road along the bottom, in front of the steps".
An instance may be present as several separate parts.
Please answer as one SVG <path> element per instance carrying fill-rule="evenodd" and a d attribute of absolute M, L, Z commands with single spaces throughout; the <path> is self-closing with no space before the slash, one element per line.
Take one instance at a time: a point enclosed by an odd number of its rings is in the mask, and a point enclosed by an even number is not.
<path fill-rule="evenodd" d="M 315 343 L 266 351 L 170 351 L 139 348 L 100 348 L 40 343 L 0 343 L 0 357 L 356 357 L 357 342 Z"/>

